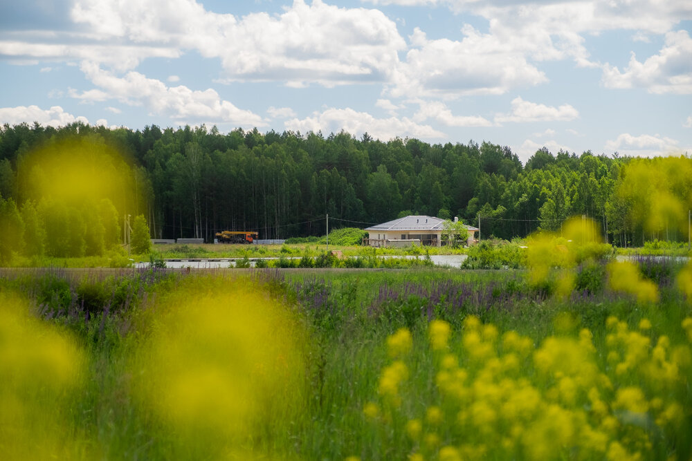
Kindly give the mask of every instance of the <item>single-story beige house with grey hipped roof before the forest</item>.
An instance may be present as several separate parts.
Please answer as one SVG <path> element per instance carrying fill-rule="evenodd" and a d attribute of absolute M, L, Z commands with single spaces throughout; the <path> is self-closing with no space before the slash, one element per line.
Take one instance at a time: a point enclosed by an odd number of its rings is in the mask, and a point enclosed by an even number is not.
<path fill-rule="evenodd" d="M 454 218 L 455 221 L 459 218 Z M 443 245 L 442 231 L 444 219 L 435 216 L 405 216 L 365 229 L 368 232 L 367 244 L 371 247 L 403 247 L 407 245 Z M 480 229 L 464 225 L 468 230 L 467 245 L 478 242 Z"/>

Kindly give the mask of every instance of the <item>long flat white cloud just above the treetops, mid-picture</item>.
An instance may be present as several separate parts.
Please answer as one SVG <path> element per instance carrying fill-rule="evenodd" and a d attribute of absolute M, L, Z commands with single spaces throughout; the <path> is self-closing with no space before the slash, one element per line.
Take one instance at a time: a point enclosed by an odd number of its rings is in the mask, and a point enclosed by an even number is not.
<path fill-rule="evenodd" d="M 390 140 L 392 138 L 410 136 L 421 139 L 446 138 L 444 133 L 430 125 L 417 124 L 408 117 L 375 118 L 367 112 L 353 109 L 326 109 L 313 113 L 312 117 L 302 120 L 294 118 L 285 122 L 286 129 L 291 131 L 322 131 L 322 133 L 338 133 L 345 130 L 352 135 L 360 136 L 368 133 L 372 138 Z"/>

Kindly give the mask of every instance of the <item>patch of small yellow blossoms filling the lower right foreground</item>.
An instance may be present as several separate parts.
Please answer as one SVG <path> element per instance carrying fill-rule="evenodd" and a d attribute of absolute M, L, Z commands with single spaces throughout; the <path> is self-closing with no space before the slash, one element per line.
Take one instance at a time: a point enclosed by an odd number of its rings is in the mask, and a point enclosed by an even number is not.
<path fill-rule="evenodd" d="M 569 314 L 536 343 L 477 317 L 427 341 L 401 328 L 363 417 L 410 460 L 688 459 L 692 318 L 671 341 L 648 319 L 607 320 L 605 337 Z"/>

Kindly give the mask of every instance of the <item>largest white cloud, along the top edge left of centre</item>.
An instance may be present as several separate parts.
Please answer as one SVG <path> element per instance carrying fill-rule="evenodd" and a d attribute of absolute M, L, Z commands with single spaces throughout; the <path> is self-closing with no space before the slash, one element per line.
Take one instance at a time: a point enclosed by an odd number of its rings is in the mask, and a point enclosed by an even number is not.
<path fill-rule="evenodd" d="M 194 0 L 170 0 L 161 8 L 140 0 L 78 0 L 72 17 L 102 39 L 218 57 L 228 81 L 381 82 L 397 65 L 397 51 L 406 48 L 396 23 L 379 10 L 321 0 L 294 0 L 282 15 L 259 12 L 242 19 L 208 12 Z"/>

